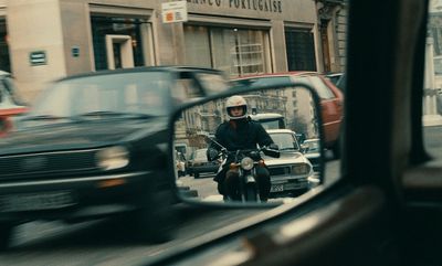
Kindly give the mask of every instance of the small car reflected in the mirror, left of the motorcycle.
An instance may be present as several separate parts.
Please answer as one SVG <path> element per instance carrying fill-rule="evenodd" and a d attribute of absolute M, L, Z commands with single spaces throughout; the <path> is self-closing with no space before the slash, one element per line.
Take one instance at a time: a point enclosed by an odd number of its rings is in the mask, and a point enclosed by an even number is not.
<path fill-rule="evenodd" d="M 220 168 L 220 161 L 209 161 L 207 158 L 207 148 L 197 149 L 192 152 L 188 162 L 188 173 L 199 179 L 201 175 L 214 175 Z"/>

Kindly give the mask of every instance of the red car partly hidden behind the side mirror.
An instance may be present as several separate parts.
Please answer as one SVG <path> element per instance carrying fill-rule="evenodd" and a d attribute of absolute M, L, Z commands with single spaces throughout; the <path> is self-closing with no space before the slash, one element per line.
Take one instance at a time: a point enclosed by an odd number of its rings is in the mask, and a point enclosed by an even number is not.
<path fill-rule="evenodd" d="M 278 82 L 299 82 L 311 85 L 320 97 L 325 148 L 332 149 L 339 158 L 339 132 L 344 116 L 344 95 L 329 79 L 316 72 L 286 72 L 242 76 L 234 78 L 234 85 L 263 85 Z"/>

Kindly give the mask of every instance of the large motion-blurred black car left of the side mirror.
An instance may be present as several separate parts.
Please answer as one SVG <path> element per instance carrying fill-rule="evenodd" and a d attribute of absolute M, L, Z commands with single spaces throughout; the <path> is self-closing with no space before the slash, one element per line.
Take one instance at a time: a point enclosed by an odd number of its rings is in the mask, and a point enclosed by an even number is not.
<path fill-rule="evenodd" d="M 168 117 L 225 89 L 221 72 L 136 67 L 56 81 L 0 140 L 0 247 L 14 225 L 130 213 L 143 240 L 168 230 Z"/>

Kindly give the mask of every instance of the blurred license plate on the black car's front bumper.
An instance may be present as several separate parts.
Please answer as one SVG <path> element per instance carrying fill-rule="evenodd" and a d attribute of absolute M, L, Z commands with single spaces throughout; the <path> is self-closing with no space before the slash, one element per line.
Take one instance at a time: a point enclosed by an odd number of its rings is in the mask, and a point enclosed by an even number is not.
<path fill-rule="evenodd" d="M 53 210 L 73 204 L 73 196 L 69 191 L 10 194 L 0 198 L 1 212 Z"/>

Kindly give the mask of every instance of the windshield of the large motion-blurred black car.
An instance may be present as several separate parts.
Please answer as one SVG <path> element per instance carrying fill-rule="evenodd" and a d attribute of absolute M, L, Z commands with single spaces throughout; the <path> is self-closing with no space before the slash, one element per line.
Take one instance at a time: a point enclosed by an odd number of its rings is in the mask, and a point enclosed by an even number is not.
<path fill-rule="evenodd" d="M 108 119 L 169 114 L 170 74 L 134 72 L 56 82 L 36 100 L 27 120 Z M 46 118 L 46 119 L 42 119 Z"/>

